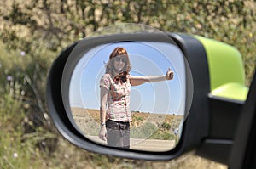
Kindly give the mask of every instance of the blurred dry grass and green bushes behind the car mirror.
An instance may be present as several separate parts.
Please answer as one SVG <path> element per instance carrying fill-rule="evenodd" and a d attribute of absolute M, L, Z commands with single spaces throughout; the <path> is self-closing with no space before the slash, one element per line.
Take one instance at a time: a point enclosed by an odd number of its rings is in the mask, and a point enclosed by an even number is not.
<path fill-rule="evenodd" d="M 154 162 L 90 154 L 62 140 L 45 104 L 45 82 L 51 63 L 62 48 L 99 28 L 140 23 L 235 46 L 242 54 L 249 86 L 256 64 L 255 12 L 253 0 L 0 2 L 0 166 L 82 168 L 87 163 L 91 168 L 154 167 Z M 179 163 L 175 167 L 183 166 Z"/>

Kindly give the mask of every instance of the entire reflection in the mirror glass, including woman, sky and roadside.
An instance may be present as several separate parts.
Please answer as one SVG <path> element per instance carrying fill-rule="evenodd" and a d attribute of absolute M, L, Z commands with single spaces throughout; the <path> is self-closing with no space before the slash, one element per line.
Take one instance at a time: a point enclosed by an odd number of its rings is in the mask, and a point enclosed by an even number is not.
<path fill-rule="evenodd" d="M 114 51 L 121 50 L 117 47 L 127 54 Z M 129 74 L 126 80 L 114 78 L 123 70 Z M 185 72 L 183 54 L 171 43 L 114 42 L 91 48 L 79 59 L 71 77 L 73 120 L 86 138 L 98 144 L 171 150 L 183 127 Z"/>

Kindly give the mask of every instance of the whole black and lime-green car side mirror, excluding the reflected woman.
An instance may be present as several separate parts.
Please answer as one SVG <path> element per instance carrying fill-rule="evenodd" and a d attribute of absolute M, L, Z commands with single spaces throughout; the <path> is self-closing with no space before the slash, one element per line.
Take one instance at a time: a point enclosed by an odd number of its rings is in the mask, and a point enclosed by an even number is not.
<path fill-rule="evenodd" d="M 131 87 L 130 149 L 98 138 L 100 80 L 120 46 L 128 51 L 132 76 L 165 75 L 169 67 L 174 72 L 172 81 Z M 231 60 L 231 68 L 221 67 L 226 78 L 217 66 L 223 54 Z M 241 65 L 236 48 L 205 37 L 151 30 L 85 38 L 64 49 L 49 71 L 49 114 L 64 138 L 92 152 L 160 161 L 195 150 L 226 164 L 247 96 Z M 234 72 L 239 77 L 230 76 Z M 242 97 L 232 95 L 234 89 Z"/>

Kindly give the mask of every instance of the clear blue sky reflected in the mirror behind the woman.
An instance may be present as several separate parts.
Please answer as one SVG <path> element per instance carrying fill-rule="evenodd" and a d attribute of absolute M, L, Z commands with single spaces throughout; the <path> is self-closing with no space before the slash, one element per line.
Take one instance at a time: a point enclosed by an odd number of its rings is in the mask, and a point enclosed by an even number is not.
<path fill-rule="evenodd" d="M 131 87 L 131 110 L 183 115 L 185 104 L 185 66 L 176 46 L 163 42 L 116 42 L 98 46 L 79 60 L 70 82 L 71 107 L 99 110 L 99 81 L 113 48 L 124 47 L 131 61 L 132 76 L 165 75 L 174 71 L 172 81 L 144 83 Z"/>

